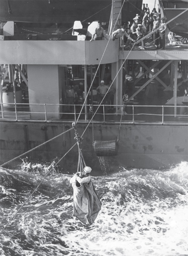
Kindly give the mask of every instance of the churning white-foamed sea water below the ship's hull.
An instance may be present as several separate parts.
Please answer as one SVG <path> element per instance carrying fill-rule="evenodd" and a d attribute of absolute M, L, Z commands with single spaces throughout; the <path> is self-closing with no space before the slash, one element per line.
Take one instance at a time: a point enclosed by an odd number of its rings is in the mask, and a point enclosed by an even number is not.
<path fill-rule="evenodd" d="M 49 167 L 0 169 L 0 229 Z M 92 177 L 102 210 L 91 226 L 72 216 L 72 175 L 53 170 L 0 235 L 1 256 L 188 256 L 188 163 Z"/>

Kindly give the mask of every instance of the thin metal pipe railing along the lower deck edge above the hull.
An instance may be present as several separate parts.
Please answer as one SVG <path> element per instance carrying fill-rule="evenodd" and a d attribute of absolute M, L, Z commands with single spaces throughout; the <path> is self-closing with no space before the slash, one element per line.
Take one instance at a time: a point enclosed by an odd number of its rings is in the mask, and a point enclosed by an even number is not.
<path fill-rule="evenodd" d="M 0 103 L 1 121 L 79 122 L 99 124 L 188 125 L 188 106 L 170 105 L 65 105 Z M 99 108 L 98 108 L 99 107 Z M 97 110 L 98 108 L 98 110 Z M 97 111 L 96 111 L 97 110 Z M 122 119 L 121 119 L 121 113 Z"/>

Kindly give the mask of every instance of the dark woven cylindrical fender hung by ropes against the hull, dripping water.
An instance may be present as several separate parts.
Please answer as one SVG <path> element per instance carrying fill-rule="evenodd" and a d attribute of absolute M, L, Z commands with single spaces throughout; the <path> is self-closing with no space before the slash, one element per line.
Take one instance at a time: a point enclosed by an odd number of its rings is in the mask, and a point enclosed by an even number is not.
<path fill-rule="evenodd" d="M 94 141 L 94 150 L 98 157 L 110 157 L 118 154 L 117 141 Z"/>

